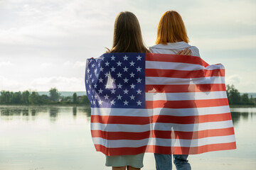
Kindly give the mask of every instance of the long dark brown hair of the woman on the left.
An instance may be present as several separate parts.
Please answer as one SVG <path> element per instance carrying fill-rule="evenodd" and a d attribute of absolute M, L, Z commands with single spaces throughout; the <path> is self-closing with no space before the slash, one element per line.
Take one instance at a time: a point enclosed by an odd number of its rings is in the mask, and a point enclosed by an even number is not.
<path fill-rule="evenodd" d="M 139 21 L 133 13 L 125 11 L 117 15 L 113 47 L 108 52 L 149 52 L 142 40 Z"/>

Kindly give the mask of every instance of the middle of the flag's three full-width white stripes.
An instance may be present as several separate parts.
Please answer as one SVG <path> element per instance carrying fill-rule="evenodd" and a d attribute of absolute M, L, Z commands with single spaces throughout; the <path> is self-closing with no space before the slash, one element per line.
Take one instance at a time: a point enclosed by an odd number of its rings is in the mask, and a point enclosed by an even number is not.
<path fill-rule="evenodd" d="M 102 124 L 91 123 L 91 130 L 102 130 L 107 132 L 146 132 L 149 130 L 174 130 L 182 132 L 193 132 L 200 130 L 214 130 L 233 127 L 232 120 L 194 124 L 176 123 L 149 123 L 146 125 L 127 125 L 127 124 Z"/>

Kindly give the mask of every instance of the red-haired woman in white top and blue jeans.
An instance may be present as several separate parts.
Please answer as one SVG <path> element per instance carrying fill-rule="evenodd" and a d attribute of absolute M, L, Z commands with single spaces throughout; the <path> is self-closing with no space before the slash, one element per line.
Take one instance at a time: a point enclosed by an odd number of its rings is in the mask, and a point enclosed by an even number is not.
<path fill-rule="evenodd" d="M 159 21 L 157 28 L 156 45 L 149 47 L 152 53 L 177 54 L 178 51 L 189 49 L 191 54 L 200 57 L 198 48 L 188 44 L 188 35 L 181 16 L 176 11 L 166 11 Z M 156 170 L 167 170 L 172 168 L 171 154 L 154 154 L 156 159 Z M 174 154 L 174 164 L 177 170 L 190 170 L 188 155 Z"/>

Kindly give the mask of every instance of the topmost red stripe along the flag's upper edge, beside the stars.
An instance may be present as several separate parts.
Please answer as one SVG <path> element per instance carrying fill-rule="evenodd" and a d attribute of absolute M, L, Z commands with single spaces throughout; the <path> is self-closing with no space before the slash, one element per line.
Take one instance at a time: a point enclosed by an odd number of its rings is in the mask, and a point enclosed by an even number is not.
<path fill-rule="evenodd" d="M 200 64 L 203 67 L 207 67 L 209 64 L 203 61 L 200 57 L 195 57 L 191 55 L 165 55 L 165 54 L 153 54 L 146 53 L 146 61 L 155 62 L 182 62 L 188 64 Z"/>

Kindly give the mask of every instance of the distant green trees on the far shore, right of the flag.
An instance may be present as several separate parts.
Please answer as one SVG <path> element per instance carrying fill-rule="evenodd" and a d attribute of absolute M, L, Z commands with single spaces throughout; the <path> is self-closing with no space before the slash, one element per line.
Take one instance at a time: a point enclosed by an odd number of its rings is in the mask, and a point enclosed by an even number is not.
<path fill-rule="evenodd" d="M 242 105 L 254 105 L 255 104 L 255 99 L 252 98 L 252 96 L 248 96 L 248 94 L 242 94 L 240 95 L 240 92 L 238 89 L 235 89 L 235 86 L 232 84 L 227 85 L 227 95 L 228 95 L 228 103 L 230 105 L 235 105 L 235 104 L 242 104 Z"/>

